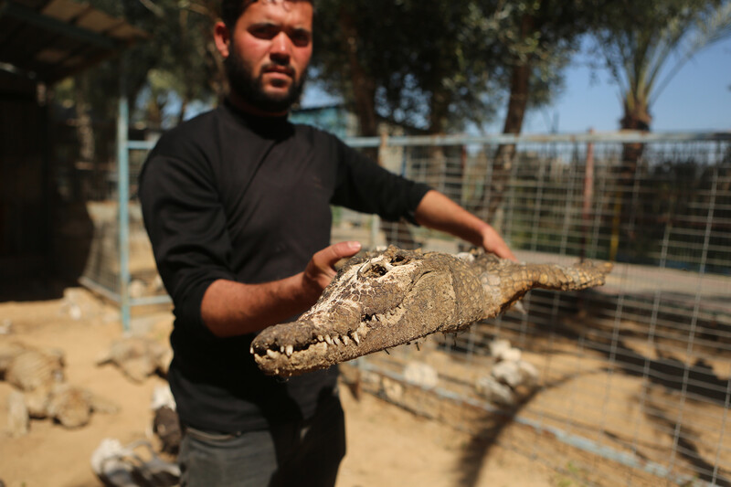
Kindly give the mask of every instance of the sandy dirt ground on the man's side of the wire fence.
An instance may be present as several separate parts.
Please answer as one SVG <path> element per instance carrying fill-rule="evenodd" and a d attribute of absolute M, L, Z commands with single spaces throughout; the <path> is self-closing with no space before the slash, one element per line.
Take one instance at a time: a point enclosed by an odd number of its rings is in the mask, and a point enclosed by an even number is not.
<path fill-rule="evenodd" d="M 172 315 L 148 313 L 134 323 L 140 333 L 166 343 Z M 5 425 L 7 399 L 14 388 L 0 381 L 0 480 L 7 487 L 101 485 L 90 456 L 102 439 L 119 439 L 122 444 L 156 440 L 150 402 L 164 379 L 150 376 L 133 383 L 114 365 L 97 365 L 121 336 L 116 309 L 79 288 L 67 289 L 62 299 L 0 302 L 0 344 L 61 350 L 66 382 L 119 406 L 115 414 L 94 413 L 90 424 L 79 429 L 32 419 L 26 435 L 12 437 Z M 342 388 L 342 399 L 348 444 L 338 487 L 576 485 L 540 461 L 504 449 L 500 441 L 474 438 L 370 394 L 356 400 L 347 387 Z M 514 425 L 501 434 L 519 438 L 524 429 Z"/>

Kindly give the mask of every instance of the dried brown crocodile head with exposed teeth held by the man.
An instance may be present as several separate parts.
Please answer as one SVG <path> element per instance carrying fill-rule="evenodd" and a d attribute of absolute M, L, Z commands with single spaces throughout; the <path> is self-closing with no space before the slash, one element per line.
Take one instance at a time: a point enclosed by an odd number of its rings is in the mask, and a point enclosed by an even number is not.
<path fill-rule="evenodd" d="M 350 259 L 308 312 L 261 332 L 251 353 L 265 374 L 296 376 L 430 333 L 460 331 L 497 316 L 534 288 L 599 286 L 609 270 L 609 264 L 517 264 L 482 251 L 389 247 Z"/>

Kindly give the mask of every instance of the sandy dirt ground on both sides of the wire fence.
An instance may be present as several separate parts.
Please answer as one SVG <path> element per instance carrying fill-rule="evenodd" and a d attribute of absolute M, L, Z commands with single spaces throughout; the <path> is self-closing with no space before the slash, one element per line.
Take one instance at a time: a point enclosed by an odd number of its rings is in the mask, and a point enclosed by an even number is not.
<path fill-rule="evenodd" d="M 95 412 L 78 429 L 31 419 L 25 435 L 11 435 L 8 398 L 15 388 L 0 380 L 0 481 L 6 487 L 101 485 L 90 458 L 102 439 L 125 445 L 149 439 L 159 449 L 151 399 L 164 379 L 149 376 L 135 383 L 116 366 L 99 365 L 111 343 L 123 335 L 118 310 L 81 288 L 58 291 L 58 296 L 63 297 L 0 301 L 0 351 L 10 343 L 60 351 L 65 382 L 111 401 L 118 411 Z M 631 329 L 630 323 L 623 326 Z M 164 308 L 136 310 L 132 317 L 133 333 L 165 346 L 171 327 L 172 314 Z M 516 343 L 518 339 L 514 337 Z M 685 397 L 673 387 L 648 384 L 629 368 L 608 367 L 602 353 L 580 348 L 573 338 L 530 340 L 524 343 L 523 358 L 540 371 L 541 387 L 513 411 L 520 421 L 392 380 L 403 374 L 405 364 L 418 362 L 439 371 L 439 388 L 447 396 L 470 397 L 480 376 L 489 372 L 490 357 L 461 361 L 428 342 L 420 350 L 398 347 L 391 355 L 372 355 L 365 368 L 344 365 L 341 397 L 348 443 L 337 486 L 673 485 L 648 473 L 665 465 L 682 475 L 680 483 L 690 479 L 688 484 L 694 485 L 700 477 L 731 485 L 726 469 L 731 435 L 725 434 L 722 403 Z M 620 344 L 627 366 L 638 357 L 652 359 L 643 362 L 652 367 L 672 364 L 645 349 L 643 340 L 628 335 Z M 368 366 L 377 366 L 379 373 L 374 375 Z M 726 390 L 731 365 L 709 358 L 703 366 L 694 371 L 703 372 L 704 380 L 720 377 Z M 358 398 L 352 393 L 354 373 L 362 391 Z M 592 449 L 605 454 L 588 453 Z M 609 461 L 611 455 L 640 459 L 645 469 Z"/>

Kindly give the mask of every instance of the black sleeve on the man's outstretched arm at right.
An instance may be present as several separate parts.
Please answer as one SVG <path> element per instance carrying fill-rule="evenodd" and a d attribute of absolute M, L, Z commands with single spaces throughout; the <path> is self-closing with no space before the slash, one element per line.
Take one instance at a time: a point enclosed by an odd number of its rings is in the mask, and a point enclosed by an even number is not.
<path fill-rule="evenodd" d="M 429 186 L 395 175 L 337 141 L 340 164 L 332 202 L 387 221 L 406 218 L 417 225 L 415 213 Z"/>

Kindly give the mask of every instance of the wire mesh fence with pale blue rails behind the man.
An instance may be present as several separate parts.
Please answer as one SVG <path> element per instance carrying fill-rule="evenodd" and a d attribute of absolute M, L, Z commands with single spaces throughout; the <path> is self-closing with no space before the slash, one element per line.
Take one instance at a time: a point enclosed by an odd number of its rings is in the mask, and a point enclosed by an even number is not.
<path fill-rule="evenodd" d="M 579 483 L 731 485 L 728 134 L 348 143 L 380 146 L 380 164 L 490 221 L 521 260 L 610 260 L 614 270 L 599 289 L 531 291 L 523 310 L 430 337 L 418 350 L 359 359 L 344 367 L 346 378 Z M 150 145 L 129 151 L 132 306 L 164 295 L 135 196 Z M 119 265 L 104 238 L 108 249 L 97 246 L 103 259 L 92 251 L 99 265 L 88 265 L 85 278 L 113 293 Z M 334 208 L 333 240 L 350 238 L 366 247 L 463 249 L 425 228 Z M 504 397 L 486 386 L 500 344 L 517 350 L 534 377 Z M 524 425 L 523 434 L 502 434 L 506 424 Z"/>

